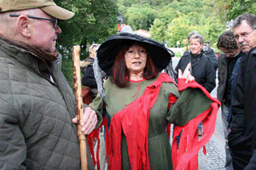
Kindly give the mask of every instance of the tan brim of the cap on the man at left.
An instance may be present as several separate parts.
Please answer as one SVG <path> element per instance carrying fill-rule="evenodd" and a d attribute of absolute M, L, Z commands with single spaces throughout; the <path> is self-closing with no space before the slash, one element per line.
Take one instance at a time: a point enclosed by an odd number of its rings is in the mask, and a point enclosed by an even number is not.
<path fill-rule="evenodd" d="M 68 11 L 65 8 L 58 7 L 56 5 L 45 6 L 41 8 L 45 13 L 55 17 L 58 20 L 68 20 L 74 15 L 73 12 Z"/>

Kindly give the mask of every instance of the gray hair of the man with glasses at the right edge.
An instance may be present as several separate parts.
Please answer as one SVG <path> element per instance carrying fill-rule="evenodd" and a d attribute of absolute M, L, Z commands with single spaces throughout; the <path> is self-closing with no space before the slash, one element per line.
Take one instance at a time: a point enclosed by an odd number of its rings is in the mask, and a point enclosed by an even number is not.
<path fill-rule="evenodd" d="M 240 14 L 238 17 L 236 17 L 236 20 L 234 21 L 234 28 L 241 25 L 241 21 L 247 20 L 247 24 L 253 29 L 256 30 L 256 16 L 255 14 L 250 13 L 244 13 Z"/>

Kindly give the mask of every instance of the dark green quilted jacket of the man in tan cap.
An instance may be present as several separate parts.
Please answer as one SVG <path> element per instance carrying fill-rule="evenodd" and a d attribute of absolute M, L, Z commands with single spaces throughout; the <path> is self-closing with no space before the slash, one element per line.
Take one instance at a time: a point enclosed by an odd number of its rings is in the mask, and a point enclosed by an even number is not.
<path fill-rule="evenodd" d="M 54 82 L 41 74 L 36 59 Z M 61 55 L 46 64 L 0 40 L 0 84 L 0 169 L 79 170 L 75 99 L 61 72 Z M 90 151 L 88 158 L 94 169 Z"/>

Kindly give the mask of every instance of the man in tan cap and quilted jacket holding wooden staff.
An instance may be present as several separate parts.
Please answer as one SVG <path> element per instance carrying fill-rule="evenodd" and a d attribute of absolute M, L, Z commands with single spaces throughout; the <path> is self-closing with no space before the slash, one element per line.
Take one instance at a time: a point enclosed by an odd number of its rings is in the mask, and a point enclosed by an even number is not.
<path fill-rule="evenodd" d="M 52 0 L 0 0 L 1 170 L 81 168 L 75 99 L 55 48 L 57 20 L 72 17 Z M 85 113 L 89 134 L 102 116 Z"/>

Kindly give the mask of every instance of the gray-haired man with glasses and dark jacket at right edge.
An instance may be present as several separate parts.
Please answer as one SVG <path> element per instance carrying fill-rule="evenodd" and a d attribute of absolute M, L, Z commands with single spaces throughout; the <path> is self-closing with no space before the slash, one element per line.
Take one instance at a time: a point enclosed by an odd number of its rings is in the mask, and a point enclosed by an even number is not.
<path fill-rule="evenodd" d="M 256 169 L 256 16 L 239 15 L 234 24 L 234 36 L 242 59 L 231 101 L 229 145 L 234 169 Z"/>

